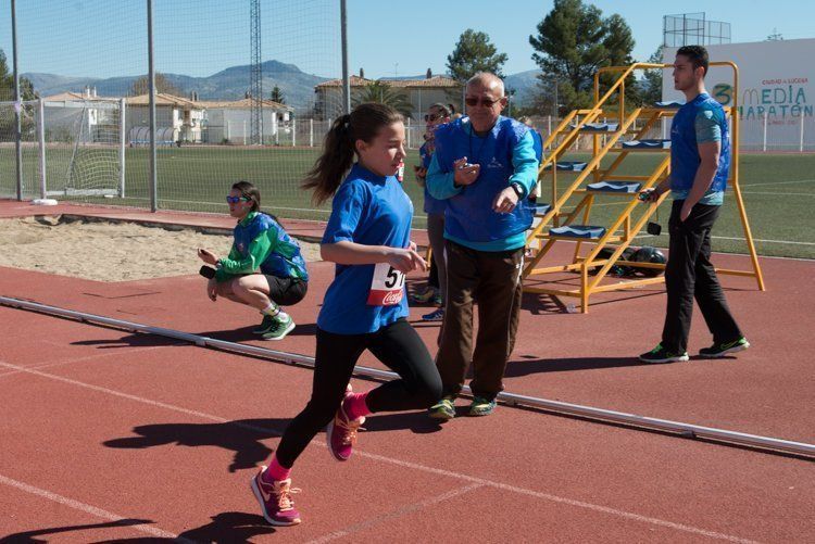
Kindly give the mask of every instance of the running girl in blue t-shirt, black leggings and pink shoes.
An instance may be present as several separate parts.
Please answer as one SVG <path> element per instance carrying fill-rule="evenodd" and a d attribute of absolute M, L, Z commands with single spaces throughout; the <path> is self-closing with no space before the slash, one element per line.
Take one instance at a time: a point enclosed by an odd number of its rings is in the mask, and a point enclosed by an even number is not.
<path fill-rule="evenodd" d="M 396 110 L 361 104 L 334 123 L 303 184 L 314 190 L 317 203 L 334 195 L 321 254 L 337 267 L 317 317 L 311 400 L 286 429 L 268 468 L 251 482 L 273 526 L 300 522 L 289 475 L 326 425 L 331 455 L 348 460 L 365 416 L 427 408 L 441 396 L 436 365 L 405 320 L 404 274 L 424 270 L 426 264 L 410 241 L 413 204 L 394 177 L 405 157 L 403 142 L 404 125 Z M 400 379 L 353 393 L 351 374 L 366 349 Z"/>

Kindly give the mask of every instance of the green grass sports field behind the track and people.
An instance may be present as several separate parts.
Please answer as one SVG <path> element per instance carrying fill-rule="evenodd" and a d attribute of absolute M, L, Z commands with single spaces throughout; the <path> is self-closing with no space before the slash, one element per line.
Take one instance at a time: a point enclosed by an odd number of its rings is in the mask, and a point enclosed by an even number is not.
<path fill-rule="evenodd" d="M 85 188 L 115 188 L 115 150 L 95 150 L 95 155 L 75 160 L 75 170 L 87 180 Z M 226 212 L 224 197 L 229 186 L 239 179 L 252 181 L 261 188 L 263 206 L 281 218 L 325 219 L 327 205 L 315 207 L 310 194 L 299 188 L 299 180 L 317 156 L 315 149 L 251 149 L 251 148 L 165 148 L 158 151 L 159 207 L 201 212 Z M 661 155 L 641 154 L 626 160 L 619 174 L 644 175 Z M 567 159 L 586 160 L 586 155 Z M 74 197 L 74 200 L 104 204 L 125 204 L 148 207 L 148 150 L 126 151 L 126 198 Z M 24 150 L 24 193 L 39 195 L 38 159 L 34 149 Z M 49 190 L 64 187 L 71 162 L 70 150 L 49 150 Z M 425 225 L 422 213 L 422 189 L 413 176 L 412 166 L 418 164 L 417 152 L 411 151 L 406 161 L 404 187 L 416 208 L 414 224 Z M 560 174 L 560 187 L 565 187 L 569 175 Z M 0 149 L 0 194 L 13 195 L 14 150 Z M 756 248 L 762 255 L 815 258 L 815 219 L 811 206 L 815 204 L 815 155 L 813 154 L 742 154 L 741 187 Z M 541 201 L 551 201 L 546 191 Z M 729 195 L 728 195 L 729 197 Z M 55 195 L 59 200 L 70 200 Z M 602 205 L 601 205 L 602 204 Z M 598 197 L 590 222 L 609 225 L 620 211 L 620 200 Z M 661 206 L 660 223 L 666 232 L 669 201 Z M 738 219 L 734 199 L 726 198 L 725 206 L 713 232 L 714 251 L 744 253 L 747 244 Z M 641 243 L 665 246 L 667 237 L 642 239 Z"/>

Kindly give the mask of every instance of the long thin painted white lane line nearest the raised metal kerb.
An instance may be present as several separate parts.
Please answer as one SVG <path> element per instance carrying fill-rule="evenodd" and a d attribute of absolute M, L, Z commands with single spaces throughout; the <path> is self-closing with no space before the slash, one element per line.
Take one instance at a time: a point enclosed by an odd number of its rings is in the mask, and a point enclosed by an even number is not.
<path fill-rule="evenodd" d="M 106 393 L 106 394 L 110 394 L 110 395 L 113 395 L 113 396 L 118 396 L 121 398 L 127 398 L 129 401 L 135 401 L 135 402 L 147 404 L 147 405 L 150 405 L 150 406 L 165 408 L 165 409 L 178 412 L 180 414 L 187 414 L 187 415 L 190 415 L 190 416 L 199 417 L 201 419 L 208 419 L 210 421 L 217 421 L 217 422 L 221 422 L 221 423 L 226 423 L 226 422 L 233 423 L 231 421 L 229 421 L 229 420 L 227 420 L 227 419 L 225 419 L 223 417 L 213 416 L 211 414 L 206 414 L 206 413 L 203 413 L 203 412 L 198 412 L 198 410 L 193 410 L 193 409 L 189 409 L 189 408 L 183 408 L 180 406 L 174 406 L 172 404 L 166 404 L 166 403 L 163 403 L 163 402 L 160 402 L 160 401 L 152 401 L 150 398 L 145 398 L 145 397 L 137 396 L 137 395 L 131 395 L 131 394 L 128 394 L 128 393 L 123 393 L 121 391 L 116 391 L 116 390 L 113 390 L 113 389 L 102 388 L 100 385 L 93 385 L 93 384 L 85 383 L 85 382 L 82 382 L 82 381 L 78 381 L 78 380 L 72 380 L 70 378 L 64 378 L 62 376 L 57 376 L 57 375 L 52 375 L 52 374 L 41 372 L 39 370 L 33 370 L 33 369 L 28 369 L 28 368 L 21 367 L 21 366 L 17 366 L 17 365 L 12 365 L 10 363 L 5 363 L 5 362 L 2 362 L 2 360 L 0 360 L 0 366 L 7 367 L 7 368 L 22 370 L 22 371 L 27 372 L 27 374 L 32 374 L 32 375 L 35 375 L 35 376 L 40 376 L 42 378 L 48 378 L 48 379 L 51 379 L 51 380 L 61 381 L 61 382 L 64 382 L 64 383 L 70 383 L 72 385 L 77 385 L 77 387 L 80 387 L 80 388 L 90 389 L 92 391 L 98 391 L 100 393 Z M 233 425 L 236 425 L 237 427 L 241 427 L 241 428 L 244 428 L 244 429 L 261 430 L 261 431 L 264 431 L 264 432 L 266 432 L 268 430 L 274 430 L 278 434 L 280 434 L 280 430 L 279 429 L 259 428 L 259 427 L 255 427 L 255 426 L 240 425 L 240 423 L 233 423 Z M 317 445 L 319 445 L 322 447 L 327 447 L 326 444 L 325 444 L 325 442 L 323 440 L 316 440 L 315 439 L 311 443 L 312 444 L 317 444 Z M 607 515 L 616 516 L 616 517 L 624 518 L 624 519 L 630 519 L 630 520 L 634 520 L 634 521 L 640 521 L 640 522 L 650 523 L 650 524 L 653 524 L 653 526 L 665 527 L 665 528 L 668 528 L 668 529 L 675 529 L 677 531 L 682 531 L 682 532 L 687 532 L 687 533 L 701 534 L 703 536 L 709 536 L 709 537 L 719 539 L 719 540 L 726 540 L 726 541 L 729 541 L 729 542 L 740 542 L 740 543 L 750 543 L 750 544 L 753 544 L 755 542 L 755 541 L 751 541 L 751 540 L 747 540 L 747 539 L 741 539 L 739 536 L 732 536 L 732 535 L 729 535 L 729 534 L 718 533 L 718 532 L 715 532 L 715 531 L 709 531 L 706 529 L 701 529 L 701 528 L 693 527 L 693 526 L 687 526 L 687 524 L 684 524 L 684 523 L 676 523 L 674 521 L 667 521 L 667 520 L 660 519 L 660 518 L 652 518 L 650 516 L 642 516 L 640 514 L 635 514 L 635 513 L 630 513 L 630 511 L 627 511 L 627 510 L 618 510 L 616 508 L 611 508 L 611 507 L 607 507 L 607 506 L 597 505 L 597 504 L 593 504 L 593 503 L 586 503 L 584 501 L 576 501 L 574 498 L 561 497 L 561 496 L 557 496 L 557 495 L 552 495 L 550 493 L 542 493 L 542 492 L 535 491 L 535 490 L 529 490 L 529 489 L 525 489 L 525 488 L 518 488 L 518 486 L 515 486 L 515 485 L 509 485 L 509 484 L 505 484 L 505 483 L 496 482 L 496 481 L 492 481 L 492 480 L 487 480 L 487 479 L 484 479 L 484 478 L 478 478 L 478 477 L 465 475 L 465 473 L 462 473 L 462 472 L 454 472 L 452 470 L 444 470 L 444 469 L 440 469 L 440 468 L 428 467 L 426 465 L 419 465 L 417 463 L 405 461 L 405 460 L 397 459 L 397 458 L 393 458 L 393 457 L 386 457 L 384 455 L 372 454 L 369 452 L 354 451 L 354 455 L 360 456 L 360 457 L 365 457 L 367 459 L 378 460 L 378 461 L 390 464 L 390 465 L 396 465 L 396 466 L 399 466 L 399 467 L 410 468 L 410 469 L 413 469 L 413 470 L 421 470 L 423 472 L 427 472 L 427 473 L 431 473 L 431 475 L 446 476 L 448 478 L 463 480 L 463 481 L 471 482 L 471 483 L 477 483 L 479 485 L 487 485 L 487 486 L 490 486 L 490 488 L 496 488 L 496 489 L 500 489 L 500 490 L 503 490 L 503 491 L 509 491 L 509 492 L 512 492 L 512 493 L 517 493 L 519 495 L 531 496 L 531 497 L 541 498 L 541 499 L 544 499 L 544 501 L 550 501 L 550 502 L 553 502 L 553 503 L 565 504 L 565 505 L 568 505 L 568 506 L 576 506 L 576 507 L 585 508 L 585 509 L 588 509 L 588 510 L 599 511 L 599 513 L 602 513 L 602 514 L 607 514 Z"/>

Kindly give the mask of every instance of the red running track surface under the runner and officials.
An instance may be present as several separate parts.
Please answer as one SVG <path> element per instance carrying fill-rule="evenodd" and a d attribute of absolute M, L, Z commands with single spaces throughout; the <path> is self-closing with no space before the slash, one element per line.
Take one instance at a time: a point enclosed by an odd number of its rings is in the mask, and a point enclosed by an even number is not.
<path fill-rule="evenodd" d="M 32 207 L 0 202 L 0 216 Z M 34 210 L 230 223 L 60 207 Z M 319 235 L 318 226 L 302 229 Z M 717 263 L 747 266 L 739 256 Z M 754 344 L 738 358 L 637 363 L 661 330 L 659 288 L 600 295 L 588 315 L 527 298 L 506 389 L 815 442 L 815 263 L 762 264 L 767 292 L 725 279 Z M 251 338 L 250 311 L 210 303 L 197 275 L 102 283 L 0 268 L 0 295 L 313 355 L 333 268 L 318 263 L 311 273 L 305 301 L 289 308 L 298 328 L 274 344 Z M 414 308 L 412 319 L 424 312 Z M 274 530 L 248 482 L 306 402 L 311 370 L 2 306 L 0 324 L 0 539 L 815 540 L 811 461 L 509 407 L 443 429 L 424 414 L 374 416 L 347 464 L 318 435 L 293 473 L 303 524 Z M 435 351 L 438 326 L 417 328 Z M 709 341 L 700 316 L 691 344 Z"/>

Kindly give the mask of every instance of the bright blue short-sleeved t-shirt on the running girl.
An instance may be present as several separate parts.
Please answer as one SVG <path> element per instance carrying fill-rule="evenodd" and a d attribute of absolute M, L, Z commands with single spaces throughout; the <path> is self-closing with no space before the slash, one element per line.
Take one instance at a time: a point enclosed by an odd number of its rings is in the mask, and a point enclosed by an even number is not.
<path fill-rule="evenodd" d="M 394 176 L 377 176 L 354 164 L 334 195 L 322 243 L 347 240 L 364 245 L 406 248 L 412 218 L 413 203 Z M 336 334 L 362 334 L 408 316 L 404 293 L 399 304 L 367 304 L 374 268 L 375 265 L 336 266 L 317 327 Z"/>

